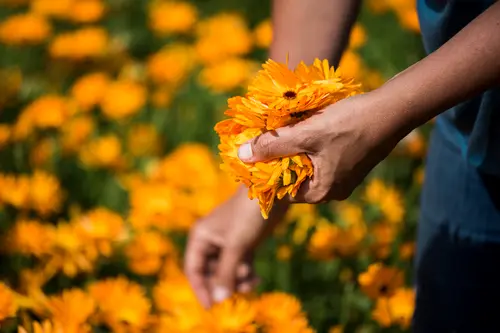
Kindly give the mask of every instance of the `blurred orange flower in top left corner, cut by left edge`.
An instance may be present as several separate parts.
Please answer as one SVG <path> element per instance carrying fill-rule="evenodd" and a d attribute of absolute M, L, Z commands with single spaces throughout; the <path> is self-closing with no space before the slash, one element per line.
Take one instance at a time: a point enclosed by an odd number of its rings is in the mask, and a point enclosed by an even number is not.
<path fill-rule="evenodd" d="M 50 36 L 49 22 L 36 14 L 17 14 L 0 23 L 0 42 L 10 45 L 39 44 Z"/>

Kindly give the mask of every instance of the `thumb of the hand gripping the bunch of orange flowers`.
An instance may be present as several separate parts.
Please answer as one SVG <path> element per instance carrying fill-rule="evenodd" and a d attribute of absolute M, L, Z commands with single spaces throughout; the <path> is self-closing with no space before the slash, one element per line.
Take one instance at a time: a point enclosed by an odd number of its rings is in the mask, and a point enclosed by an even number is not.
<path fill-rule="evenodd" d="M 276 131 L 266 132 L 238 148 L 238 157 L 241 161 L 255 163 L 273 158 L 295 155 L 302 152 L 298 139 L 298 128 L 294 126 L 278 128 Z"/>

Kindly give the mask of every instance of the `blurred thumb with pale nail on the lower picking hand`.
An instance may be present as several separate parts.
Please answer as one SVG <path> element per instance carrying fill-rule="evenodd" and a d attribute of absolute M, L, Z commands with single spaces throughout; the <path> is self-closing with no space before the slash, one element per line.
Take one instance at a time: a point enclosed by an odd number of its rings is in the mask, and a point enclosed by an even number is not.
<path fill-rule="evenodd" d="M 243 255 L 244 251 L 241 246 L 223 248 L 212 288 L 212 301 L 215 303 L 231 297 L 234 292 L 236 270 Z"/>

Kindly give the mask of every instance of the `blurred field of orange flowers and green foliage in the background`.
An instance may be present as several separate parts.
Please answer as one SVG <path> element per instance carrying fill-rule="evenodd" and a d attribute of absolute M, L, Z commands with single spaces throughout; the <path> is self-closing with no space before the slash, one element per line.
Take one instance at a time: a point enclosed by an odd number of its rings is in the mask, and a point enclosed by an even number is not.
<path fill-rule="evenodd" d="M 346 201 L 294 205 L 261 283 L 205 310 L 190 227 L 238 187 L 228 98 L 272 40 L 264 0 L 0 0 L 0 332 L 406 332 L 413 131 Z M 340 68 L 369 91 L 423 57 L 415 1 L 365 1 Z"/>

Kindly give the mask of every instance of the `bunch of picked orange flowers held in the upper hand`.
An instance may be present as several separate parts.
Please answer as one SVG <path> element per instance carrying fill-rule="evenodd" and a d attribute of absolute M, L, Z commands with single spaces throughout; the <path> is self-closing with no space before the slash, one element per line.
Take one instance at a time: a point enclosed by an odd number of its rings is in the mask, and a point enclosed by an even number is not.
<path fill-rule="evenodd" d="M 300 185 L 313 175 L 305 154 L 258 163 L 243 163 L 238 147 L 277 128 L 303 121 L 341 99 L 361 92 L 352 78 L 330 67 L 328 60 L 316 59 L 310 66 L 301 62 L 295 70 L 287 64 L 268 60 L 250 83 L 245 96 L 228 100 L 229 119 L 219 122 L 222 168 L 249 188 L 257 198 L 264 218 L 275 198 L 294 197 Z"/>

